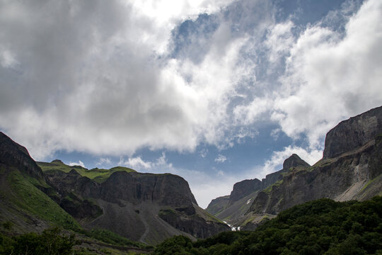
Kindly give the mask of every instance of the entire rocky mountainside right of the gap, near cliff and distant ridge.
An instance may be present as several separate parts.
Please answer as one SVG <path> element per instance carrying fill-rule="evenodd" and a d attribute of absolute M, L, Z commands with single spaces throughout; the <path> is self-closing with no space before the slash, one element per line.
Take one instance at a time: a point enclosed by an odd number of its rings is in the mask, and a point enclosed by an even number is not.
<path fill-rule="evenodd" d="M 236 183 L 207 211 L 241 229 L 310 200 L 367 200 L 382 195 L 382 106 L 344 120 L 326 135 L 323 159 L 309 166 L 296 154 L 260 181 Z M 216 211 L 216 208 L 219 208 Z"/>

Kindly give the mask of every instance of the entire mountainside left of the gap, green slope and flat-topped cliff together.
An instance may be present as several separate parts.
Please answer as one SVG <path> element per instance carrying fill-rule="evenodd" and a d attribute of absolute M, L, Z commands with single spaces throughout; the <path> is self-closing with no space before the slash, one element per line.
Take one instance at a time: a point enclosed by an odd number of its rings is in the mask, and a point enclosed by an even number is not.
<path fill-rule="evenodd" d="M 229 229 L 199 208 L 180 176 L 122 166 L 88 170 L 58 159 L 36 163 L 4 133 L 0 183 L 0 222 L 13 222 L 14 233 L 59 225 L 77 232 L 107 229 L 157 244 L 177 234 L 195 239 Z"/>

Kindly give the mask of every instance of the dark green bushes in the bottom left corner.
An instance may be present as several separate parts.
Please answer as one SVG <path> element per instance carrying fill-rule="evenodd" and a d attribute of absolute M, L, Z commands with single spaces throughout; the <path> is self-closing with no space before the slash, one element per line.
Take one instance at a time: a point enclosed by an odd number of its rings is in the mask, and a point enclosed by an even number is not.
<path fill-rule="evenodd" d="M 55 227 L 45 229 L 42 234 L 31 232 L 13 239 L 1 236 L 0 252 L 1 254 L 69 255 L 72 254 L 74 244 L 76 244 L 74 235 L 61 234 L 61 229 Z"/>

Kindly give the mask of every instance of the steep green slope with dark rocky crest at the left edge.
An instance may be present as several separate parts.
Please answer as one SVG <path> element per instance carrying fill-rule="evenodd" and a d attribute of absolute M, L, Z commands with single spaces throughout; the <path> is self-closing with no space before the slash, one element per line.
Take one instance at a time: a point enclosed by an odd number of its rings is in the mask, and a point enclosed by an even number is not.
<path fill-rule="evenodd" d="M 42 187 L 50 190 L 27 149 L 0 132 L 0 222 L 11 222 L 16 234 L 39 232 L 50 224 L 81 229 Z"/>

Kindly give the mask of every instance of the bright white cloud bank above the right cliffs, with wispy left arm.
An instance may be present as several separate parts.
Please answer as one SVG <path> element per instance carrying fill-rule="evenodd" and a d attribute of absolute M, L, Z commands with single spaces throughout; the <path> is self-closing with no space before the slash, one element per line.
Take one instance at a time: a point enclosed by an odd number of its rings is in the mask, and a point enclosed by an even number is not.
<path fill-rule="evenodd" d="M 343 8 L 330 11 L 325 23 L 349 15 L 355 6 Z M 340 120 L 380 106 L 381 1 L 365 1 L 357 13 L 343 20 L 345 33 L 323 23 L 308 25 L 300 35 L 291 33 L 295 28 L 291 21 L 270 26 L 263 42 L 270 68 L 263 71 L 279 78 L 257 81 L 250 92 L 253 99 L 234 107 L 236 123 L 272 120 L 289 137 L 306 137 L 307 149 L 314 151 L 323 149 L 326 132 Z M 284 74 L 279 76 L 281 71 Z"/>

